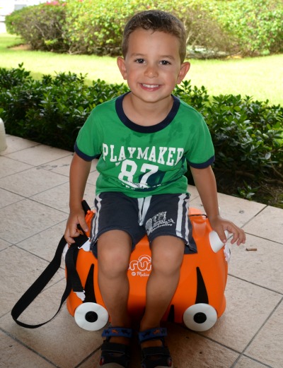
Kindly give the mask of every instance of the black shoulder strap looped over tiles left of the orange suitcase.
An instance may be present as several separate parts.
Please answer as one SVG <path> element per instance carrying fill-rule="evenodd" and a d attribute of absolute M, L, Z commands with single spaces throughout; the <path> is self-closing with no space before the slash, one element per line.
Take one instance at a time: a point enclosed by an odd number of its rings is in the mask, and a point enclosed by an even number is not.
<path fill-rule="evenodd" d="M 87 207 L 85 208 L 85 206 Z M 83 208 L 85 210 L 89 208 L 85 201 L 83 201 Z M 37 295 L 39 295 L 40 292 L 42 292 L 42 290 L 50 282 L 52 277 L 55 275 L 55 273 L 57 273 L 59 267 L 61 266 L 62 253 L 64 247 L 67 244 L 64 236 L 60 240 L 57 250 L 50 264 L 47 266 L 47 268 L 45 268 L 45 270 L 41 273 L 41 275 L 37 278 L 37 280 L 35 280 L 33 285 L 31 285 L 28 288 L 28 290 L 23 294 L 23 296 L 20 299 L 18 299 L 18 302 L 16 302 L 16 304 L 14 305 L 11 311 L 11 316 L 18 325 L 25 328 L 37 328 L 43 326 L 44 324 L 47 324 L 52 319 L 54 319 L 55 316 L 57 316 L 62 307 L 62 304 L 67 299 L 71 290 L 83 291 L 81 280 L 79 278 L 78 273 L 76 272 L 76 258 L 79 253 L 79 247 L 81 247 L 85 242 L 88 241 L 88 237 L 83 233 L 83 235 L 79 235 L 79 237 L 74 238 L 74 240 L 75 243 L 71 244 L 66 254 L 67 283 L 57 312 L 51 319 L 43 322 L 42 324 L 30 325 L 18 321 L 18 317 L 21 316 L 23 311 L 28 308 L 28 306 L 33 302 L 33 300 L 37 297 Z"/>

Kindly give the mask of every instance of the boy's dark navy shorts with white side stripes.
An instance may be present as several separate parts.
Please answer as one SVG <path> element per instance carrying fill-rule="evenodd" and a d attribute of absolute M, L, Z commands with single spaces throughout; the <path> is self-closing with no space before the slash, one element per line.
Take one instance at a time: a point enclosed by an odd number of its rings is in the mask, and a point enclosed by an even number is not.
<path fill-rule="evenodd" d="M 97 256 L 97 239 L 104 232 L 123 230 L 132 238 L 132 249 L 144 235 L 149 244 L 161 235 L 183 239 L 185 254 L 196 253 L 192 224 L 188 217 L 188 194 L 157 194 L 132 198 L 120 192 L 103 192 L 96 196 L 96 213 L 91 225 L 91 244 Z"/>

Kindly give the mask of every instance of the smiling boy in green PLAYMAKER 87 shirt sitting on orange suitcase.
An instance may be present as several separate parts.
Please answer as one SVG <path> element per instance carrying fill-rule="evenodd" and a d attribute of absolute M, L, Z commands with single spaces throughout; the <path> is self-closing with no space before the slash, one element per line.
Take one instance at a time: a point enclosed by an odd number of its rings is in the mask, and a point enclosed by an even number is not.
<path fill-rule="evenodd" d="M 75 144 L 65 231 L 69 244 L 79 235 L 78 224 L 88 230 L 81 199 L 91 160 L 100 156 L 91 244 L 112 324 L 103 331 L 100 366 L 105 368 L 129 364 L 127 269 L 144 234 L 152 271 L 139 325 L 141 367 L 173 367 L 160 322 L 178 285 L 185 248 L 196 251 L 187 216 L 187 162 L 212 228 L 223 242 L 224 230 L 233 234 L 232 244 L 245 242 L 243 230 L 219 216 L 214 149 L 204 120 L 171 95 L 190 69 L 185 44 L 183 25 L 170 13 L 144 11 L 129 20 L 117 65 L 130 92 L 93 109 Z"/>

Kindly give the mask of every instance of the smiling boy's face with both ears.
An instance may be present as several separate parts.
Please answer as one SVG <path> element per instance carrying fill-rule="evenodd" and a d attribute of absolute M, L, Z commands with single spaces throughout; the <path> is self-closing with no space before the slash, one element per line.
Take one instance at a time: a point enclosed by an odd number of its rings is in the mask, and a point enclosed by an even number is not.
<path fill-rule="evenodd" d="M 178 38 L 165 32 L 139 28 L 129 35 L 127 55 L 117 64 L 132 95 L 144 102 L 171 97 L 190 69 L 190 63 L 181 64 L 179 47 Z"/>

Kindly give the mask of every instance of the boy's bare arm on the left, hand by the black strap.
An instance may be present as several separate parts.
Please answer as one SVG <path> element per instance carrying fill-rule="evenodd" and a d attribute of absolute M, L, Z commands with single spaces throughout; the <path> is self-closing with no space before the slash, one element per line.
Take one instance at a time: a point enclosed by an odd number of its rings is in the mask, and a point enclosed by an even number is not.
<path fill-rule="evenodd" d="M 70 167 L 70 214 L 66 225 L 64 237 L 68 244 L 74 243 L 74 237 L 79 236 L 77 225 L 86 232 L 88 226 L 86 225 L 85 213 L 81 206 L 83 194 L 86 188 L 86 181 L 91 170 L 91 161 L 86 161 L 74 153 L 73 160 Z"/>

